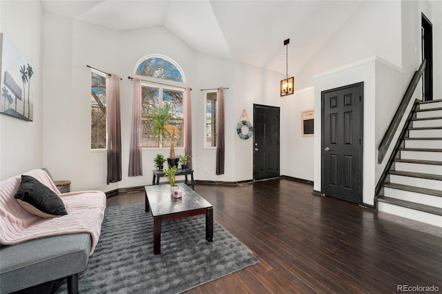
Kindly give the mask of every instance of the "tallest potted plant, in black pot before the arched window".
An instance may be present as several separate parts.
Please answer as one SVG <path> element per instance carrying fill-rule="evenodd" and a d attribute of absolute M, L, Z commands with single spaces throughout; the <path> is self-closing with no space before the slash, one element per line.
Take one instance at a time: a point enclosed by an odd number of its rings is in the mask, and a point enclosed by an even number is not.
<path fill-rule="evenodd" d="M 169 153 L 169 167 L 178 165 L 178 158 L 175 156 L 175 148 L 173 148 L 173 140 L 177 134 L 177 127 L 169 124 L 172 115 L 169 111 L 169 104 L 165 104 L 164 107 L 160 107 L 157 110 L 152 110 L 152 116 L 149 117 L 149 121 L 152 124 L 152 131 L 155 137 L 158 137 L 164 142 L 164 139 L 171 138 L 171 150 Z"/>

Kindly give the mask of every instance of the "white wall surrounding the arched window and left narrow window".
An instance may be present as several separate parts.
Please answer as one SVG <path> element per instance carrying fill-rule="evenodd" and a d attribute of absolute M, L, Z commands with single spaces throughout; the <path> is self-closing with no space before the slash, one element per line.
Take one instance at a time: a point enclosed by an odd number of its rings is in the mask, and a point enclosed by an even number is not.
<path fill-rule="evenodd" d="M 133 84 L 127 77 L 133 76 L 135 65 L 142 57 L 158 53 L 177 61 L 188 81 L 195 80 L 195 52 L 163 27 L 116 32 L 89 23 L 72 21 L 50 12 L 46 14 L 46 23 L 45 55 L 48 57 L 48 66 L 45 75 L 45 99 L 49 110 L 45 124 L 46 166 L 56 171 L 53 173 L 55 178 L 70 179 L 72 190 L 108 191 L 150 184 L 154 169 L 153 157 L 157 153 L 167 155 L 169 149 L 144 149 L 144 175 L 128 177 Z M 58 46 L 52 46 L 60 35 L 64 40 L 57 43 Z M 119 183 L 106 184 L 106 150 L 90 150 L 90 69 L 86 65 L 115 73 L 122 78 L 119 82 L 122 181 Z M 62 81 L 59 79 L 59 72 L 66 72 Z M 60 89 L 68 89 L 69 94 L 60 97 Z M 61 105 L 69 110 L 62 118 L 55 111 Z M 61 130 L 64 133 L 60 133 Z M 183 153 L 182 149 L 177 148 L 177 153 Z"/>

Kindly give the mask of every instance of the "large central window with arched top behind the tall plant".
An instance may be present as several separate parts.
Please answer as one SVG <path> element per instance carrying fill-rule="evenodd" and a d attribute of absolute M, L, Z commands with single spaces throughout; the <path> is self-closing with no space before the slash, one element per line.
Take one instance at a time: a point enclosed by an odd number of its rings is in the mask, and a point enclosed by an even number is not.
<path fill-rule="evenodd" d="M 182 70 L 177 64 L 167 57 L 152 56 L 146 57 L 140 61 L 135 69 L 135 75 L 142 75 L 155 79 L 163 79 L 166 81 L 183 82 L 184 76 Z M 157 110 L 169 105 L 169 111 L 172 118 L 169 124 L 173 129 L 174 146 L 184 146 L 183 123 L 184 112 L 182 106 L 182 99 L 184 95 L 183 88 L 167 85 L 167 82 L 157 84 L 154 79 L 152 83 L 142 81 L 142 146 L 146 147 L 170 147 L 170 137 L 164 141 L 160 141 L 153 136 L 151 122 L 149 117 L 152 115 L 152 110 Z"/>

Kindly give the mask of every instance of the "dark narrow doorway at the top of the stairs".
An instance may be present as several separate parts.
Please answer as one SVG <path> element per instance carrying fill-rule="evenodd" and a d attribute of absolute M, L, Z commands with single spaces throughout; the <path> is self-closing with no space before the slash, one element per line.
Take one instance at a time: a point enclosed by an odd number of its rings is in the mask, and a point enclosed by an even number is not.
<path fill-rule="evenodd" d="M 427 66 L 422 75 L 422 99 L 433 99 L 433 29 L 432 23 L 422 14 L 422 60 L 427 60 Z"/>

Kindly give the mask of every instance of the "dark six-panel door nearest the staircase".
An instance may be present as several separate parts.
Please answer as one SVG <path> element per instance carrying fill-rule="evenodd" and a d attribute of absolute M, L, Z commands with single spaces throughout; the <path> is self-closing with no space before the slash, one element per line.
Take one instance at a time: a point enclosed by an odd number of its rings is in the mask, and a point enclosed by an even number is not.
<path fill-rule="evenodd" d="M 362 203 L 363 83 L 322 92 L 322 189 Z"/>

